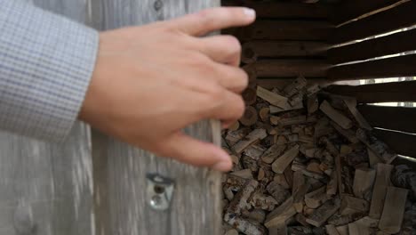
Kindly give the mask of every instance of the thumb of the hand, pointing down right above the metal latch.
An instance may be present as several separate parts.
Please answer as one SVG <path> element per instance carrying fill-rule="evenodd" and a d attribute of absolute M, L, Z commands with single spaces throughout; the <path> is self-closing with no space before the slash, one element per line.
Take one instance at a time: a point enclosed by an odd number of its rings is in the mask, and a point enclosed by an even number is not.
<path fill-rule="evenodd" d="M 233 165 L 225 150 L 211 142 L 198 141 L 181 132 L 169 136 L 162 148 L 166 157 L 193 166 L 209 166 L 214 170 L 229 171 Z"/>

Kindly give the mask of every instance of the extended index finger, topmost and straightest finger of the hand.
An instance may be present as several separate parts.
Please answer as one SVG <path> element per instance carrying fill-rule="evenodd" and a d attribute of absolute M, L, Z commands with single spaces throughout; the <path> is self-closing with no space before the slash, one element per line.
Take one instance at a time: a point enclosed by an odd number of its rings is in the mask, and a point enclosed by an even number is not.
<path fill-rule="evenodd" d="M 221 28 L 230 28 L 244 26 L 252 23 L 256 18 L 252 9 L 245 7 L 216 7 L 188 14 L 166 23 L 180 31 L 192 35 L 202 36 L 209 32 L 220 30 Z"/>

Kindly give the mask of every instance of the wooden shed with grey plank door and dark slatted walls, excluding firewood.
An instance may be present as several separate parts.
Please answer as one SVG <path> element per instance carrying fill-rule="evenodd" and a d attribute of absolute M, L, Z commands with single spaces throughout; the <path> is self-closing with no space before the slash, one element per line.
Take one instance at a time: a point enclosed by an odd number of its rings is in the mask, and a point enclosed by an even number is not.
<path fill-rule="evenodd" d="M 32 2 L 100 30 L 167 20 L 220 4 L 252 7 L 258 15 L 255 23 L 223 33 L 242 42 L 242 66 L 250 75 L 254 99 L 258 86 L 272 92 L 299 77 L 323 87 L 324 93 L 354 97 L 357 110 L 376 127 L 373 133 L 399 155 L 389 164 L 416 170 L 416 108 L 370 105 L 416 101 L 414 0 Z M 397 81 L 380 83 L 379 78 L 391 77 Z M 220 145 L 218 121 L 200 122 L 186 132 Z M 387 170 L 380 166 L 382 171 Z M 379 175 L 383 182 L 387 174 Z M 1 133 L 0 234 L 221 234 L 226 177 L 156 158 L 83 123 L 60 144 Z M 403 198 L 402 191 L 394 192 L 389 197 Z"/>

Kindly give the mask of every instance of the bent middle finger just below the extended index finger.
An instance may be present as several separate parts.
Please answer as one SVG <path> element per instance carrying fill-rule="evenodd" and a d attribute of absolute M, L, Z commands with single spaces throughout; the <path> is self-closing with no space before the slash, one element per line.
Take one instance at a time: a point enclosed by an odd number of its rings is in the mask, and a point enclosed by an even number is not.
<path fill-rule="evenodd" d="M 200 51 L 209 56 L 212 61 L 240 65 L 241 45 L 234 36 L 209 36 L 197 39 Z"/>

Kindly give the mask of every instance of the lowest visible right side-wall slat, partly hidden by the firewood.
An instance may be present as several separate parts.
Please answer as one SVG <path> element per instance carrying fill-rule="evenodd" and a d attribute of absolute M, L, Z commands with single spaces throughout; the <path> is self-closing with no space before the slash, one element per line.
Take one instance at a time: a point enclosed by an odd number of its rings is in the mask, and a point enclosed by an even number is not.
<path fill-rule="evenodd" d="M 416 135 L 374 129 L 374 134 L 397 154 L 416 158 Z"/>

